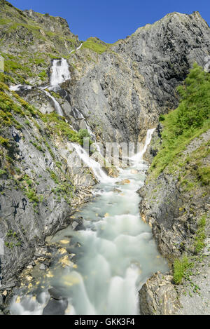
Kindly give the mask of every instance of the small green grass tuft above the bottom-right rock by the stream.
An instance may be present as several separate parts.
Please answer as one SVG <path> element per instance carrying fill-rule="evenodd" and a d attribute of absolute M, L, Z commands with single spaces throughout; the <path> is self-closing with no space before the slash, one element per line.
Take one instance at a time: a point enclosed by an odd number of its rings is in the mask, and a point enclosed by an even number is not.
<path fill-rule="evenodd" d="M 174 283 L 181 284 L 183 278 L 186 276 L 188 269 L 193 267 L 187 256 L 183 256 L 181 260 L 174 260 Z"/>

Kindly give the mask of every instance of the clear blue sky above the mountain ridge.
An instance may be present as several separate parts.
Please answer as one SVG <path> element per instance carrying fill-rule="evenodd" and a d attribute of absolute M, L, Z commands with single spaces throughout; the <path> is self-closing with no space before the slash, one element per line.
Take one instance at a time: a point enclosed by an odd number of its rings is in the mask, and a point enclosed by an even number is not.
<path fill-rule="evenodd" d="M 209 0 L 10 0 L 13 6 L 66 18 L 80 40 L 97 36 L 108 43 L 124 39 L 138 27 L 167 13 L 200 11 L 210 25 Z"/>

